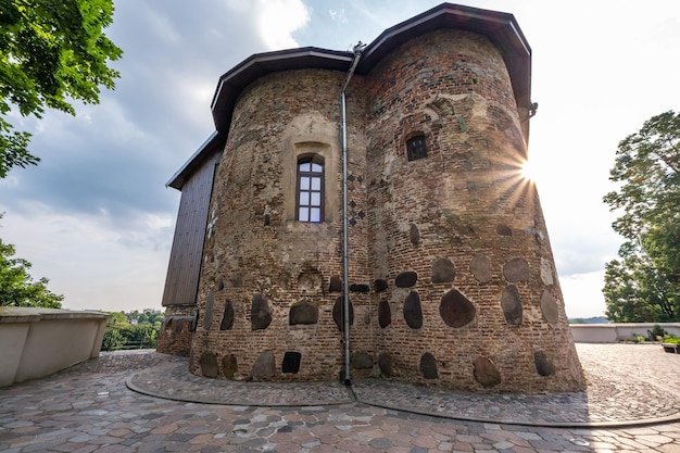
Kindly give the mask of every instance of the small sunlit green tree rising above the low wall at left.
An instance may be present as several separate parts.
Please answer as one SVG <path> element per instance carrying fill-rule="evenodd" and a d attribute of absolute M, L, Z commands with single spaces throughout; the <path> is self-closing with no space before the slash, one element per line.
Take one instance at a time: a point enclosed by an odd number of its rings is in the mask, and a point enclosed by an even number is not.
<path fill-rule="evenodd" d="M 30 263 L 14 256 L 14 247 L 0 239 L 0 305 L 61 309 L 63 295 L 47 289 L 49 280 L 34 281 Z"/>

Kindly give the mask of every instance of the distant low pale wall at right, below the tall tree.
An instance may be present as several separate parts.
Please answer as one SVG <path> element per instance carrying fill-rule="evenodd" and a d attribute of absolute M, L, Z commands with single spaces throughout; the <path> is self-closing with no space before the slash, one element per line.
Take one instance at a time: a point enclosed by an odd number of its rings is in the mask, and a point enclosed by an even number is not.
<path fill-rule="evenodd" d="M 615 343 L 633 335 L 647 337 L 647 331 L 659 326 L 680 337 L 680 323 L 570 324 L 577 343 Z"/>

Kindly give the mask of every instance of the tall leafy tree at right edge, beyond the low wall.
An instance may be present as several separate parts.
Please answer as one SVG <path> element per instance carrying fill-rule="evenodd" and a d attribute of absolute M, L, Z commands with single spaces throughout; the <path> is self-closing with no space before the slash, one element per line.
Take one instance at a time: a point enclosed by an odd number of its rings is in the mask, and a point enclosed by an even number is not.
<path fill-rule="evenodd" d="M 606 265 L 603 293 L 613 322 L 680 320 L 680 113 L 646 121 L 624 139 L 604 197 L 627 240 Z"/>

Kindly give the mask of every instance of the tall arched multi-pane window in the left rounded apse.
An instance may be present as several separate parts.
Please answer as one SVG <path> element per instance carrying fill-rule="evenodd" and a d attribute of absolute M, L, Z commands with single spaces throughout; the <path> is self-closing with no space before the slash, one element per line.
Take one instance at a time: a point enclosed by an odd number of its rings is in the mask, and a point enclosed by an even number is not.
<path fill-rule="evenodd" d="M 324 160 L 318 155 L 298 160 L 298 221 L 324 222 Z"/>

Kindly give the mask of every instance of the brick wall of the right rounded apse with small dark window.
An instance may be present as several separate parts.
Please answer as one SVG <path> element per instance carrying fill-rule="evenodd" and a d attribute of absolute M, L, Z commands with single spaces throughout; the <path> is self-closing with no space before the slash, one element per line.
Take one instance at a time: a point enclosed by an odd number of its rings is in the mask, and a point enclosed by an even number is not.
<path fill-rule="evenodd" d="M 366 89 L 369 243 L 389 282 L 374 293 L 382 374 L 475 391 L 581 388 L 500 52 L 436 32 L 393 51 Z M 427 158 L 408 162 L 414 134 Z"/>

